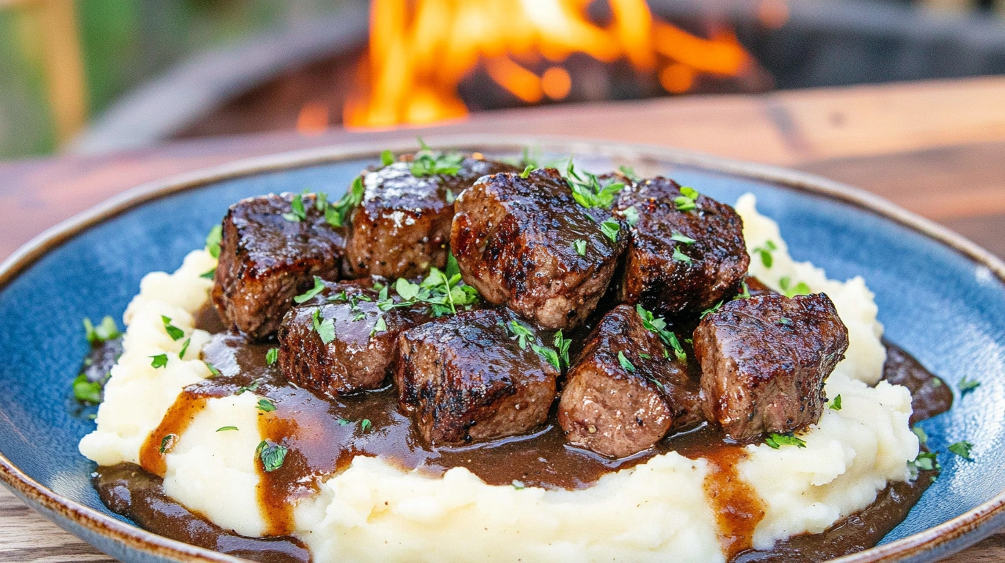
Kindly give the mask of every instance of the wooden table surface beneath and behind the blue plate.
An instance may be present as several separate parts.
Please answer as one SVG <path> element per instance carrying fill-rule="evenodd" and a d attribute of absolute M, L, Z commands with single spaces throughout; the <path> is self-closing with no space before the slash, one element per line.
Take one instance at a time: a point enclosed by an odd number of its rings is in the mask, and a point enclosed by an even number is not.
<path fill-rule="evenodd" d="M 479 132 L 649 143 L 796 168 L 870 190 L 1005 257 L 1005 77 L 988 77 L 554 106 L 429 129 L 281 133 L 0 163 L 0 258 L 76 212 L 176 173 L 349 141 Z M 948 561 L 1003 560 L 1005 533 Z M 7 561 L 112 560 L 0 488 Z"/>

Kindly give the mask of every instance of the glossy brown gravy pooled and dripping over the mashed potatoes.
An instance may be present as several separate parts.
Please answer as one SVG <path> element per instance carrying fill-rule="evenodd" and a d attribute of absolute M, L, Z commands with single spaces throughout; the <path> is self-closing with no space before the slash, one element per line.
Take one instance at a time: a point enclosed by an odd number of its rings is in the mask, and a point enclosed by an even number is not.
<path fill-rule="evenodd" d="M 203 317 L 209 316 L 200 315 L 200 319 Z M 201 327 L 210 328 L 205 324 Z M 398 408 L 392 389 L 338 399 L 319 397 L 287 383 L 277 365 L 267 365 L 266 352 L 274 346 L 247 343 L 237 335 L 217 334 L 205 347 L 203 357 L 221 375 L 186 388 L 150 435 L 141 454 L 144 470 L 163 476 L 161 448 L 166 444 L 169 449 L 174 439 L 165 442 L 165 436 L 181 435 L 208 398 L 228 396 L 254 386 L 250 392 L 267 397 L 275 405 L 273 411 L 258 413 L 262 435 L 288 448 L 279 470 L 265 473 L 258 464 L 262 477 L 258 494 L 270 536 L 289 534 L 296 501 L 313 496 L 323 479 L 344 471 L 356 455 L 379 456 L 403 470 L 430 476 L 464 466 L 489 485 L 567 490 L 589 487 L 608 473 L 667 451 L 690 458 L 705 457 L 712 470 L 705 488 L 718 515 L 720 540 L 728 556 L 737 561 L 772 560 L 794 551 L 819 560 L 824 554 L 871 547 L 907 517 L 930 484 L 924 477 L 914 484 L 893 484 L 878 495 L 872 506 L 841 520 L 823 534 L 800 536 L 780 542 L 771 551 L 755 552 L 751 550 L 751 539 L 764 509 L 753 489 L 736 475 L 735 466 L 745 455 L 742 446 L 715 428 L 706 425 L 675 434 L 647 451 L 611 460 L 567 444 L 553 413 L 548 425 L 530 436 L 463 448 L 431 448 L 423 443 L 409 417 Z M 920 419 L 952 406 L 952 392 L 945 384 L 935 384 L 938 378 L 899 348 L 887 344 L 887 350 L 884 377 L 909 386 L 913 392 L 917 390 L 915 408 Z M 103 467 L 102 472 L 108 468 Z M 129 481 L 119 474 L 117 483 L 123 479 Z M 104 476 L 103 473 L 98 483 Z M 138 486 L 138 491 L 149 489 Z M 106 504 L 116 510 L 107 499 Z M 169 519 L 147 517 L 138 522 L 168 537 L 178 537 L 181 533 Z M 182 537 L 187 536 L 182 533 Z M 831 545 L 835 541 L 840 545 Z"/>

